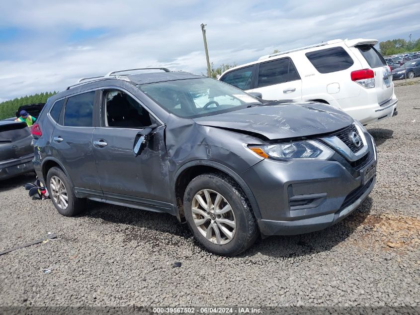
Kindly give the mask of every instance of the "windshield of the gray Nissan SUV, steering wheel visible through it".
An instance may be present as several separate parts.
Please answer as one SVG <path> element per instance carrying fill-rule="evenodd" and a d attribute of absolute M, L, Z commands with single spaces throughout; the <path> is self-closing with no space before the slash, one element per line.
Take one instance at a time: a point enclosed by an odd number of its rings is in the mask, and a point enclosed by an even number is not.
<path fill-rule="evenodd" d="M 261 104 L 243 91 L 210 78 L 158 82 L 137 87 L 166 110 L 180 117 L 214 115 L 251 104 Z"/>

